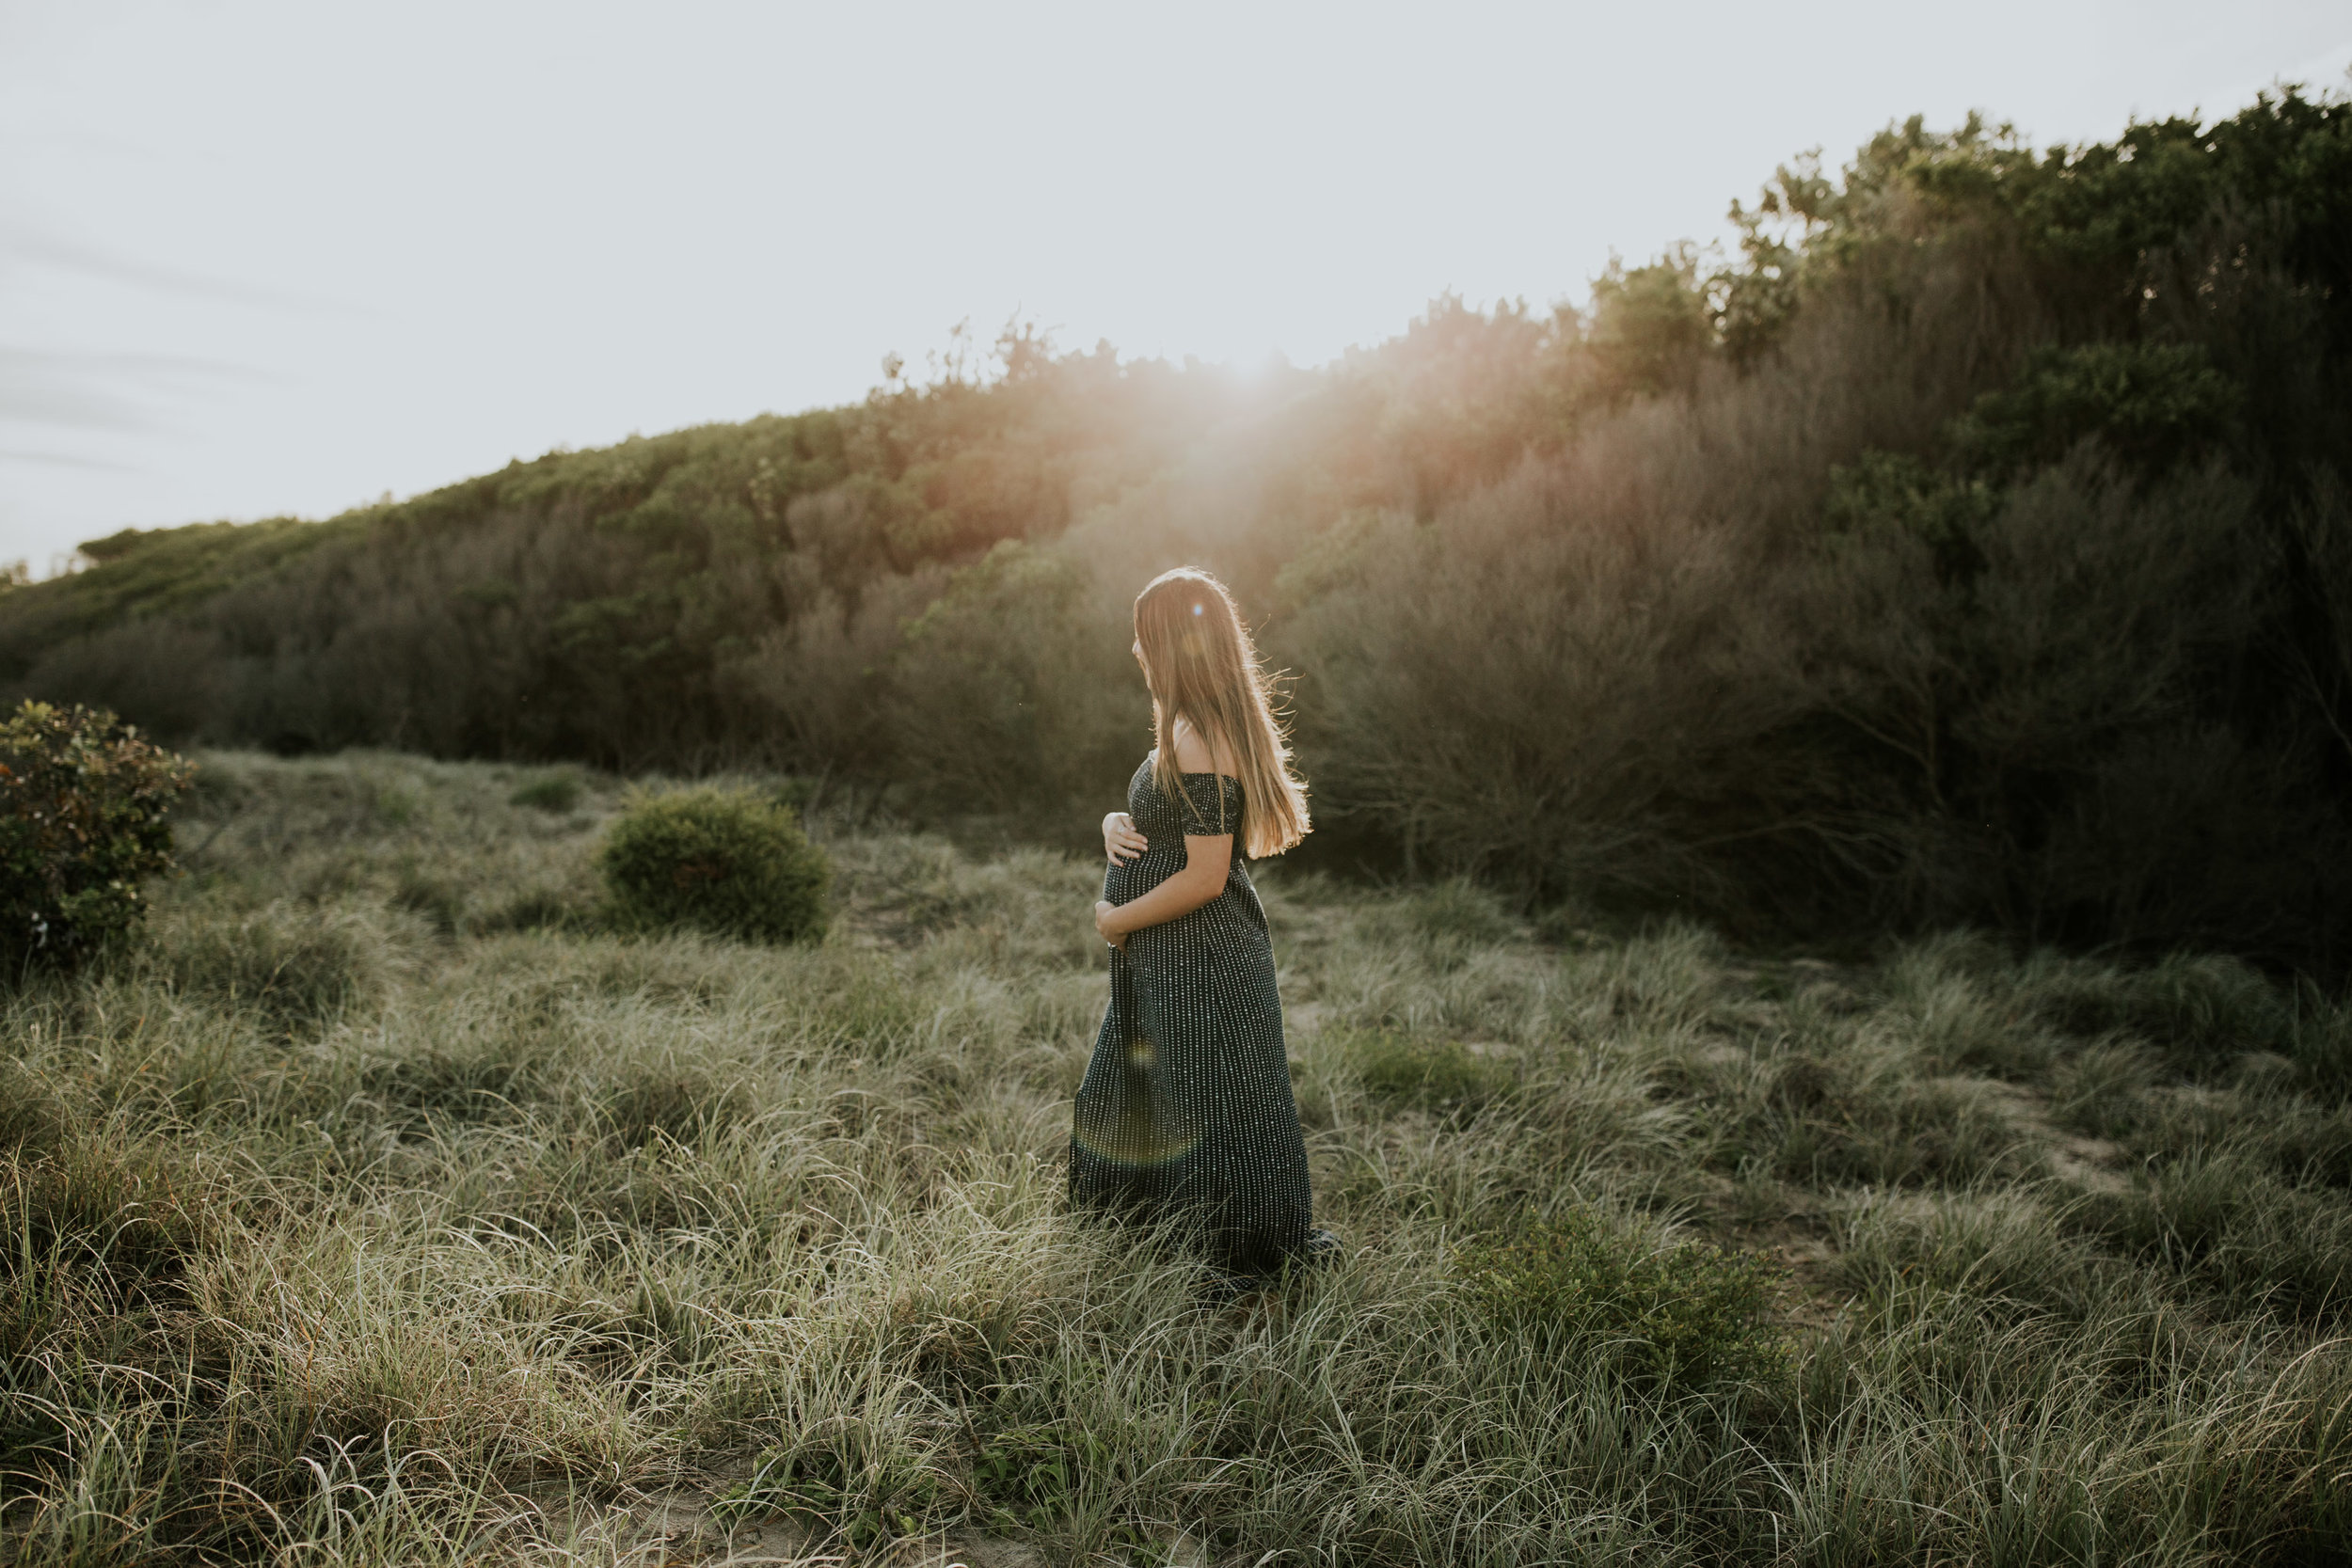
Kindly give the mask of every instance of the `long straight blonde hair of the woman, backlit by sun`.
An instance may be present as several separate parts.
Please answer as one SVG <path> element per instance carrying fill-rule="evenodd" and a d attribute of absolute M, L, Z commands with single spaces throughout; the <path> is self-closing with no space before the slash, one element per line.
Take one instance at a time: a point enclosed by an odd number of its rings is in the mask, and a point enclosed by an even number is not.
<path fill-rule="evenodd" d="M 1185 799 L 1176 766 L 1176 719 L 1185 719 L 1211 748 L 1223 741 L 1232 750 L 1242 780 L 1242 853 L 1263 860 L 1303 839 L 1308 788 L 1291 773 L 1258 649 L 1225 585 L 1195 567 L 1155 576 L 1136 595 L 1136 646 L 1152 689 L 1160 790 Z"/>

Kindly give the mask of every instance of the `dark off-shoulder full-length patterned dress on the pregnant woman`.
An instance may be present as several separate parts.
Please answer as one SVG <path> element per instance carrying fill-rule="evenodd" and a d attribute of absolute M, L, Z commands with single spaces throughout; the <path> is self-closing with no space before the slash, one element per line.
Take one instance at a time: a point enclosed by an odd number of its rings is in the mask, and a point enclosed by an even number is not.
<path fill-rule="evenodd" d="M 1131 903 L 1185 865 L 1185 832 L 1232 832 L 1225 889 L 1110 952 L 1110 1009 L 1077 1091 L 1070 1199 L 1183 1218 L 1209 1260 L 1265 1274 L 1308 1246 L 1308 1150 L 1282 1048 L 1265 907 L 1242 860 L 1242 785 L 1185 773 L 1169 799 L 1145 757 L 1127 813 L 1150 849 L 1103 877 Z"/>

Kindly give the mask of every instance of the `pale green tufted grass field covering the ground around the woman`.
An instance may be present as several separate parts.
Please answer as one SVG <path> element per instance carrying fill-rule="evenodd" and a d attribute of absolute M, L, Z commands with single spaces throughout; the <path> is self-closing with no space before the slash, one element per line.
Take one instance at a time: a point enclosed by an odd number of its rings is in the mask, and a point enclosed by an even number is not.
<path fill-rule="evenodd" d="M 616 802 L 214 755 L 0 997 L 0 1561 L 2352 1552 L 2326 999 L 1270 865 L 1348 1255 L 1204 1309 L 1063 1213 L 1091 860 L 818 809 L 823 945 L 623 940 Z"/>

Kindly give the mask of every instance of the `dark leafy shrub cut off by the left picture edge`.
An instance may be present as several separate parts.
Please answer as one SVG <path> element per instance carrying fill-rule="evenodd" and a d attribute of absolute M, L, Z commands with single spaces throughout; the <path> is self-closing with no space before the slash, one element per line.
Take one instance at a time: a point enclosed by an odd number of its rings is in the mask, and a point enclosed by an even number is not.
<path fill-rule="evenodd" d="M 193 764 L 115 715 L 24 703 L 0 722 L 0 959 L 73 964 L 139 924 L 172 870 Z"/>

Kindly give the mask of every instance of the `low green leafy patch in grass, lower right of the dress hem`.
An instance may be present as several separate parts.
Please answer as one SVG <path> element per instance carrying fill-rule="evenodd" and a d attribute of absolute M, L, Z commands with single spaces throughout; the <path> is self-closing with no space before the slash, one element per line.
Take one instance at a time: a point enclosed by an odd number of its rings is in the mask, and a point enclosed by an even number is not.
<path fill-rule="evenodd" d="M 1545 1349 L 1621 1359 L 1684 1392 L 1776 1382 L 1788 1345 L 1771 1324 L 1780 1274 L 1705 1241 L 1656 1246 L 1588 1208 L 1529 1220 L 1458 1253 L 1470 1295 L 1498 1328 Z"/>

